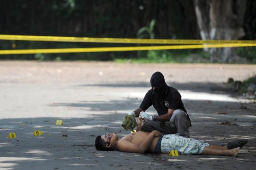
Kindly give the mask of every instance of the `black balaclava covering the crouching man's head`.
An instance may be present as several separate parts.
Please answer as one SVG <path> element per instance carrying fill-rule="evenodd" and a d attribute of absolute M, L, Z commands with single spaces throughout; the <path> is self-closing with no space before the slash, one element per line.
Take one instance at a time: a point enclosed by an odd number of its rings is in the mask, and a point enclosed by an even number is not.
<path fill-rule="evenodd" d="M 164 92 L 166 90 L 166 83 L 164 80 L 164 75 L 159 71 L 155 72 L 150 79 L 151 87 L 156 87 L 154 90 L 157 97 L 163 97 Z"/>

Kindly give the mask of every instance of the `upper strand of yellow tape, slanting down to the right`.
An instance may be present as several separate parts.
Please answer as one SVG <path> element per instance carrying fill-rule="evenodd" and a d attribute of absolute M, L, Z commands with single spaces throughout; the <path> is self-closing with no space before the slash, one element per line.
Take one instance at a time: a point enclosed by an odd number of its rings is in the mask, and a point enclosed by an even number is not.
<path fill-rule="evenodd" d="M 1 35 L 0 40 L 47 41 L 47 42 L 90 42 L 90 43 L 143 43 L 143 44 L 228 44 L 252 43 L 253 40 L 168 40 L 168 39 L 132 39 L 132 38 L 88 38 L 56 36 Z"/>

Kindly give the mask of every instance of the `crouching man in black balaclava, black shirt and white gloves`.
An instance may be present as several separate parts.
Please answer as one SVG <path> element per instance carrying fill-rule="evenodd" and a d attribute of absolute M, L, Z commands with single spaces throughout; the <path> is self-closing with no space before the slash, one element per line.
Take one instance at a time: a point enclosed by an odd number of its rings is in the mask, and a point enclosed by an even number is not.
<path fill-rule="evenodd" d="M 178 90 L 169 87 L 160 72 L 151 76 L 150 84 L 152 88 L 146 93 L 140 107 L 128 115 L 146 119 L 142 131 L 158 130 L 162 134 L 178 133 L 179 136 L 189 138 L 191 122 Z M 152 105 L 158 116 L 150 116 L 145 112 Z"/>

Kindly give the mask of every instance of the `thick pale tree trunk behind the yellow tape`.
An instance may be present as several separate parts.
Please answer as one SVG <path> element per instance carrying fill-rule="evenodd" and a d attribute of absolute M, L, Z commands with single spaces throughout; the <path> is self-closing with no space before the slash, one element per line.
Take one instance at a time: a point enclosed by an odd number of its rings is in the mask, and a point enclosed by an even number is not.
<path fill-rule="evenodd" d="M 238 40 L 242 27 L 246 0 L 194 0 L 196 17 L 202 40 Z M 211 61 L 232 62 L 238 59 L 235 48 L 212 48 Z"/>

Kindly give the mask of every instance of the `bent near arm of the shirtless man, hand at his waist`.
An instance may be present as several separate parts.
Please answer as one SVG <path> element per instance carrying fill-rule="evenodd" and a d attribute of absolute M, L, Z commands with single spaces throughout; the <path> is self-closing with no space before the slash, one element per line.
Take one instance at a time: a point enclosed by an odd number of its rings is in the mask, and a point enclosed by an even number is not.
<path fill-rule="evenodd" d="M 154 137 L 160 136 L 161 133 L 158 130 L 152 131 L 148 137 L 140 144 L 134 144 L 129 140 L 121 140 L 116 147 L 117 150 L 121 152 L 135 152 L 135 153 L 144 153 L 148 150 L 150 144 Z"/>

